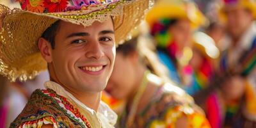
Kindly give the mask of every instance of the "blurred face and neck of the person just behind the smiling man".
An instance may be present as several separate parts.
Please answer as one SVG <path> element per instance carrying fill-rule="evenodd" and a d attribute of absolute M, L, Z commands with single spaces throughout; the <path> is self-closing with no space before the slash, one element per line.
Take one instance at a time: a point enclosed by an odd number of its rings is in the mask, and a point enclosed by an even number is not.
<path fill-rule="evenodd" d="M 145 68 L 138 63 L 138 55 L 124 56 L 116 53 L 113 72 L 106 90 L 115 99 L 128 100 L 136 93 L 136 88 L 141 82 Z"/>

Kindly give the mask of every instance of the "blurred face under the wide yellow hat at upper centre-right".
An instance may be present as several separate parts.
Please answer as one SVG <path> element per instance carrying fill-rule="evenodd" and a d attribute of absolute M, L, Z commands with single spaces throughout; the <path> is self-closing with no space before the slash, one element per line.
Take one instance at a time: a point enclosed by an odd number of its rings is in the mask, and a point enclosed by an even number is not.
<path fill-rule="evenodd" d="M 189 20 L 179 19 L 168 31 L 172 33 L 173 40 L 177 42 L 180 50 L 191 45 L 192 29 Z"/>

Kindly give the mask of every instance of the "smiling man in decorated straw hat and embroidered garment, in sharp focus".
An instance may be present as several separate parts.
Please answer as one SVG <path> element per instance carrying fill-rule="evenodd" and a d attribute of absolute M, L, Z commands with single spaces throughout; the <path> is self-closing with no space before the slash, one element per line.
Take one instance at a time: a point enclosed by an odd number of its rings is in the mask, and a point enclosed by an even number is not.
<path fill-rule="evenodd" d="M 47 89 L 31 95 L 10 127 L 113 127 L 116 114 L 101 92 L 116 43 L 140 23 L 149 1 L 34 2 L 20 1 L 14 11 L 0 4 L 0 73 L 12 81 L 50 74 Z"/>

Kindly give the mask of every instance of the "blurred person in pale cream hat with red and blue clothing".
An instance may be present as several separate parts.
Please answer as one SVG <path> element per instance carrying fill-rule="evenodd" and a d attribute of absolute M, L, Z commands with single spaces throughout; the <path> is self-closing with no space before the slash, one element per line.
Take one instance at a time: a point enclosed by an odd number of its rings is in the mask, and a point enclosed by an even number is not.
<path fill-rule="evenodd" d="M 195 95 L 209 86 L 214 75 L 214 61 L 220 56 L 214 40 L 202 32 L 194 33 L 192 50 L 193 56 L 189 61 L 191 82 L 184 88 L 189 95 Z"/>

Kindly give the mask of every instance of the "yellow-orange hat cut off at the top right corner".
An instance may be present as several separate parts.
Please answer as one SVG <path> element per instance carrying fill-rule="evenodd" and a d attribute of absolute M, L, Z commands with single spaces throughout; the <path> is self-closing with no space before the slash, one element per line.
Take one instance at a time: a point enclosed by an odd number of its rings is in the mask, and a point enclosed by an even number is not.
<path fill-rule="evenodd" d="M 227 19 L 225 8 L 228 6 L 246 8 L 252 12 L 253 19 L 256 19 L 256 0 L 222 0 L 220 4 L 220 19 L 223 21 Z"/>

